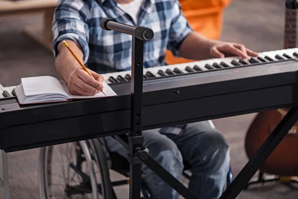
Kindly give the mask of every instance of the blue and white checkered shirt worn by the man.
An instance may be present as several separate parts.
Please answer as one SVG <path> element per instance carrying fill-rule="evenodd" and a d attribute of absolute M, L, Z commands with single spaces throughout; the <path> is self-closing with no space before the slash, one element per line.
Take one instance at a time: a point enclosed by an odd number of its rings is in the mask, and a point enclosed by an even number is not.
<path fill-rule="evenodd" d="M 192 31 L 178 0 L 145 0 L 138 22 L 115 0 L 59 0 L 52 24 L 54 56 L 59 42 L 70 39 L 81 47 L 89 69 L 100 74 L 131 70 L 132 36 L 103 30 L 99 25 L 102 18 L 154 31 L 154 38 L 144 45 L 145 68 L 166 65 L 166 49 L 178 56 L 182 41 Z M 162 130 L 179 133 L 182 126 Z"/>

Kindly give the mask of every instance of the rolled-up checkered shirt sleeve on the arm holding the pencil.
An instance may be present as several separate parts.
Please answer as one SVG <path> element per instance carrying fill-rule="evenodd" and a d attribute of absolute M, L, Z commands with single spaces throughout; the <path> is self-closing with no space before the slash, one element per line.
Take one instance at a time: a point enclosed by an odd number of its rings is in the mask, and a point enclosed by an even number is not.
<path fill-rule="evenodd" d="M 87 24 L 90 10 L 83 0 L 59 0 L 52 23 L 53 53 L 58 55 L 57 46 L 65 40 L 73 40 L 82 49 L 86 63 L 89 57 L 89 27 Z"/>

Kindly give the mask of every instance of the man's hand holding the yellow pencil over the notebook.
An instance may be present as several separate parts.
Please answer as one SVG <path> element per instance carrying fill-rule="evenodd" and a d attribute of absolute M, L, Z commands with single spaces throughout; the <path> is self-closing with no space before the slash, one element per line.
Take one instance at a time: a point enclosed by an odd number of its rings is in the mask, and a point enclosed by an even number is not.
<path fill-rule="evenodd" d="M 91 70 L 89 70 L 95 80 L 88 75 L 82 68 L 76 68 L 71 73 L 68 80 L 68 88 L 73 95 L 94 96 L 103 89 L 102 82 L 104 78 Z"/>

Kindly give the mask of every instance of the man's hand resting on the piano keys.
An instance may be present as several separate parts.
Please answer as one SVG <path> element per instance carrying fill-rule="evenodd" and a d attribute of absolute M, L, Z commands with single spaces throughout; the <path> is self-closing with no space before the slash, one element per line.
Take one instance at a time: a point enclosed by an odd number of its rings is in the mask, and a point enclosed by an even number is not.
<path fill-rule="evenodd" d="M 227 56 L 240 56 L 247 60 L 247 56 L 257 57 L 258 53 L 245 48 L 242 44 L 221 42 L 215 44 L 210 48 L 210 55 L 216 58 L 224 58 Z"/>

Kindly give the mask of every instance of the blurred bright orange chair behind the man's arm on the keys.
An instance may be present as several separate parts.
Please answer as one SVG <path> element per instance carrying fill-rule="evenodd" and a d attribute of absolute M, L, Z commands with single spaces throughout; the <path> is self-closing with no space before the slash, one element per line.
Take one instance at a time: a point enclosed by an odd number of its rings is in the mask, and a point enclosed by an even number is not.
<path fill-rule="evenodd" d="M 219 39 L 222 33 L 223 12 L 231 0 L 179 0 L 182 12 L 194 31 L 210 39 Z M 168 64 L 179 64 L 194 60 L 177 58 L 166 51 Z"/>

